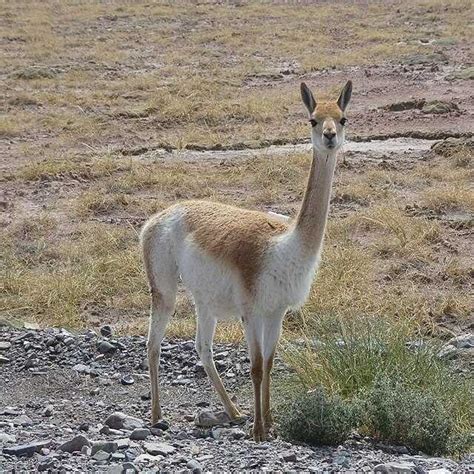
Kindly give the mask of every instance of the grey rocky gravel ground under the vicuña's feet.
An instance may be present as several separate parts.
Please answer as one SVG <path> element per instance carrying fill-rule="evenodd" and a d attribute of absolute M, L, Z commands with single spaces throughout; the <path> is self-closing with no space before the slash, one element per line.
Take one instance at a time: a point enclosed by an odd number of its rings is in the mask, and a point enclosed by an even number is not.
<path fill-rule="evenodd" d="M 248 412 L 246 349 L 220 344 L 215 356 L 226 385 Z M 285 370 L 279 362 L 276 376 Z M 251 420 L 231 426 L 216 411 L 219 405 L 197 363 L 192 341 L 164 343 L 166 421 L 154 427 L 148 422 L 143 337 L 115 338 L 108 326 L 101 328 L 101 334 L 3 327 L 0 378 L 2 472 L 441 474 L 474 469 L 469 457 L 459 462 L 427 457 L 405 447 L 376 445 L 356 435 L 338 447 L 293 445 L 279 438 L 255 444 L 248 435 Z"/>

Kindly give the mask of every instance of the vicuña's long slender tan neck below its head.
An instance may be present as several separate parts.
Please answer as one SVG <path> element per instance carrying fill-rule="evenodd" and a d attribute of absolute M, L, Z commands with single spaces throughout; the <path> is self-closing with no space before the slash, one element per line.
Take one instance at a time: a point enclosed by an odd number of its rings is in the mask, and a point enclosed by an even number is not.
<path fill-rule="evenodd" d="M 335 166 L 336 152 L 321 153 L 313 148 L 308 184 L 293 231 L 310 254 L 322 248 Z"/>

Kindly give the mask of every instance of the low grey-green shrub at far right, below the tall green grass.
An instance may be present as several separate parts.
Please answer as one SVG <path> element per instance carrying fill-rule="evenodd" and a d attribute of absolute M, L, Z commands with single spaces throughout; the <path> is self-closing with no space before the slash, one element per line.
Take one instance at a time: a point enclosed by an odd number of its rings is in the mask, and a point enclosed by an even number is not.
<path fill-rule="evenodd" d="M 367 428 L 374 437 L 427 454 L 463 452 L 469 435 L 459 433 L 449 400 L 436 392 L 382 377 L 366 398 Z"/>

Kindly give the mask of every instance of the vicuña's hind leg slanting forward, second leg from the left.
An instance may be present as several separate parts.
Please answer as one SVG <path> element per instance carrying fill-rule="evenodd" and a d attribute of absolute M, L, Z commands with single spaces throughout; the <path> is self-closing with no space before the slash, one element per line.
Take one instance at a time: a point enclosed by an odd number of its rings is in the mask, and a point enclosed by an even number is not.
<path fill-rule="evenodd" d="M 199 354 L 202 365 L 204 366 L 204 370 L 211 379 L 211 382 L 224 405 L 226 413 L 232 420 L 237 420 L 241 418 L 242 415 L 226 392 L 222 380 L 216 370 L 212 356 L 212 340 L 214 338 L 215 330 L 216 320 L 198 309 L 196 350 Z"/>

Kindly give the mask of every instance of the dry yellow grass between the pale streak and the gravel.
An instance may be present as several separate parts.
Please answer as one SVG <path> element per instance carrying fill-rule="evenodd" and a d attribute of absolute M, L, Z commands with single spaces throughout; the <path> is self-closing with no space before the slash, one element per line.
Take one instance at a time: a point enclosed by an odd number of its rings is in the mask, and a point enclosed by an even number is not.
<path fill-rule="evenodd" d="M 26 165 L 10 177 L 12 185 L 35 187 L 49 181 L 68 183 L 72 190 L 54 210 L 17 219 L 6 228 L 4 312 L 44 324 L 110 321 L 119 330 L 143 332 L 148 294 L 137 232 L 144 219 L 188 198 L 294 215 L 308 166 L 309 156 L 299 153 L 257 153 L 222 162 L 53 157 Z M 424 202 L 432 187 L 426 164 L 410 165 L 409 178 L 403 177 L 403 163 L 390 171 L 372 169 L 370 162 L 363 166 L 366 172 L 357 175 L 350 167 L 339 168 L 336 189 L 364 190 L 370 183 L 377 198 L 361 192 L 368 199 L 360 206 L 358 196 L 340 203 L 336 193 L 321 270 L 306 307 L 288 318 L 287 334 L 298 333 L 301 321 L 324 315 L 415 318 L 428 331 L 436 331 L 436 322 L 444 318 L 462 324 L 472 309 L 472 275 L 469 262 L 462 253 L 453 256 L 452 248 L 461 245 L 462 252 L 467 241 L 459 240 L 443 220 L 411 216 L 399 205 L 407 193 L 414 203 Z M 432 158 L 430 175 L 442 174 L 447 166 L 454 169 L 444 157 Z M 467 186 L 468 175 L 463 176 L 459 185 Z M 465 202 L 463 206 L 469 209 Z M 61 217 L 64 212 L 67 220 Z M 192 337 L 192 313 L 180 294 L 170 334 Z M 217 338 L 238 340 L 241 330 L 226 325 Z"/>

